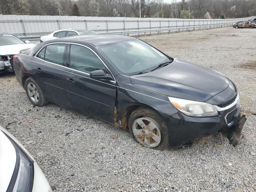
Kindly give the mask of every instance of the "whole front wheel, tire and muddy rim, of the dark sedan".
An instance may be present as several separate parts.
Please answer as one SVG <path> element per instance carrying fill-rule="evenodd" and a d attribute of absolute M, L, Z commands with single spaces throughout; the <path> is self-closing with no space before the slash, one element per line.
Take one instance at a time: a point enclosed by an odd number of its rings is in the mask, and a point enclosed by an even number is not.
<path fill-rule="evenodd" d="M 143 124 L 144 128 L 138 122 Z M 169 148 L 170 139 L 167 126 L 162 117 L 153 110 L 144 107 L 137 108 L 130 115 L 128 126 L 130 134 L 136 142 L 156 150 Z"/>

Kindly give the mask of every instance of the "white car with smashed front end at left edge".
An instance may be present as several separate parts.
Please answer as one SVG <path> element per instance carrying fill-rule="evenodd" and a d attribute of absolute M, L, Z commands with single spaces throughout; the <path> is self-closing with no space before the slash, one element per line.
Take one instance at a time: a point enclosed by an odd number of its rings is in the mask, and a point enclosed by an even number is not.
<path fill-rule="evenodd" d="M 13 72 L 12 56 L 32 46 L 34 44 L 30 41 L 23 41 L 14 34 L 0 32 L 0 73 Z"/>

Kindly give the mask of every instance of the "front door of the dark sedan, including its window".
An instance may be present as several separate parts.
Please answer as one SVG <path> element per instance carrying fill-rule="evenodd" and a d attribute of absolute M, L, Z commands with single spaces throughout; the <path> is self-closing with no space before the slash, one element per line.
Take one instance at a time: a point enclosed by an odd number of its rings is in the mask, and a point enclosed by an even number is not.
<path fill-rule="evenodd" d="M 70 69 L 67 95 L 72 108 L 97 118 L 114 122 L 116 83 L 114 81 L 94 80 L 90 72 L 108 69 L 90 48 L 70 45 Z"/>

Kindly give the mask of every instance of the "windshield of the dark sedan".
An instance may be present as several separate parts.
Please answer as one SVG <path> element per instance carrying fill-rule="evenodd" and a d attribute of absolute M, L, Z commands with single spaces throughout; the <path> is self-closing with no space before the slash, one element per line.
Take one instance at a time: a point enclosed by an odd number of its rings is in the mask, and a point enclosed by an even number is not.
<path fill-rule="evenodd" d="M 126 75 L 150 72 L 170 59 L 141 40 L 128 40 L 98 47 Z"/>

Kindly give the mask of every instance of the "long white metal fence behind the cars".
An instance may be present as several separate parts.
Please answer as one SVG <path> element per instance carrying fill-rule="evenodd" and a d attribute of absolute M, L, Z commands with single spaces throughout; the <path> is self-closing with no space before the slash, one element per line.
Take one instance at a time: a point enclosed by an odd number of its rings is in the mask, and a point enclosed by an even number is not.
<path fill-rule="evenodd" d="M 39 38 L 60 29 L 86 29 L 109 34 L 145 34 L 173 32 L 177 30 L 229 26 L 237 19 L 173 19 L 173 18 L 124 18 L 84 16 L 28 16 L 0 15 L 0 32 L 10 32 L 21 38 Z"/>

